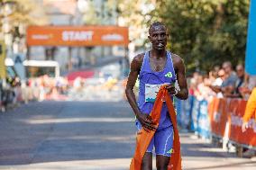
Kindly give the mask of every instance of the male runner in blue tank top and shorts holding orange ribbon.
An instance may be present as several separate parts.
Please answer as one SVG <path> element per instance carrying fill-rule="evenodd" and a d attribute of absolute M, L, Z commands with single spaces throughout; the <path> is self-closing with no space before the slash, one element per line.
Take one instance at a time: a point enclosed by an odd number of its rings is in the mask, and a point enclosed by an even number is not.
<path fill-rule="evenodd" d="M 168 33 L 165 25 L 154 22 L 149 29 L 149 40 L 152 49 L 133 58 L 125 93 L 137 118 L 138 130 L 156 130 L 151 144 L 142 159 L 142 170 L 152 169 L 152 149 L 155 147 L 158 170 L 167 170 L 173 142 L 173 127 L 169 118 L 167 105 L 164 103 L 158 129 L 152 123 L 151 110 L 160 85 L 169 84 L 166 88 L 170 95 L 181 100 L 187 99 L 187 80 L 185 66 L 181 58 L 166 50 Z M 139 76 L 140 91 L 138 103 L 133 93 L 133 86 Z M 174 85 L 178 80 L 178 85 Z"/>

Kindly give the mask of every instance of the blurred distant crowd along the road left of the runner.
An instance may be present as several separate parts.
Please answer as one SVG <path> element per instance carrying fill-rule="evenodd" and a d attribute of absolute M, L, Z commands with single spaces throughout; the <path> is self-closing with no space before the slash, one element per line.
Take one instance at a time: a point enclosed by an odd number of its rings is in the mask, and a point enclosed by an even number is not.
<path fill-rule="evenodd" d="M 50 77 L 48 75 L 32 77 L 22 81 L 19 77 L 7 78 L 5 85 L 0 82 L 0 112 L 6 108 L 33 101 L 67 100 L 109 100 L 118 94 L 123 97 L 122 81 L 116 78 Z M 4 87 L 5 86 L 5 87 Z M 116 100 L 119 96 L 115 96 Z"/>

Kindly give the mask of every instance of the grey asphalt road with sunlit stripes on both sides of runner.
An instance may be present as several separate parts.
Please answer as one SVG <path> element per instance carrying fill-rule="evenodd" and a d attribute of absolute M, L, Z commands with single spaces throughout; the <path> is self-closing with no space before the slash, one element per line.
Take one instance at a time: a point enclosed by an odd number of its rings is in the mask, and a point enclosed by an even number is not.
<path fill-rule="evenodd" d="M 0 113 L 0 169 L 129 169 L 134 117 L 126 102 L 41 102 Z M 180 133 L 183 169 L 251 170 L 191 133 Z"/>

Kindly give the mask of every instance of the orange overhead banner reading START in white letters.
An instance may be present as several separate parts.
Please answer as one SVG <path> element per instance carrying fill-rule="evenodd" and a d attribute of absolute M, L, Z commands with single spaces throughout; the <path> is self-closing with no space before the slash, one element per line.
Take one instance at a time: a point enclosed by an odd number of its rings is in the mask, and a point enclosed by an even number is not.
<path fill-rule="evenodd" d="M 29 26 L 28 46 L 128 46 L 127 27 Z"/>

